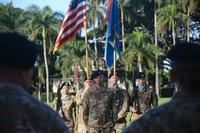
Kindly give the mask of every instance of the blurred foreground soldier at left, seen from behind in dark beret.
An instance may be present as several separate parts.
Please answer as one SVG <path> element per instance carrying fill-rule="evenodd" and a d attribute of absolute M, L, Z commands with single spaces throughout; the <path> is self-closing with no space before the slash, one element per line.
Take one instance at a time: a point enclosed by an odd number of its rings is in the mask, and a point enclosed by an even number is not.
<path fill-rule="evenodd" d="M 0 33 L 0 132 L 69 133 L 62 119 L 26 91 L 36 45 L 17 33 Z"/>

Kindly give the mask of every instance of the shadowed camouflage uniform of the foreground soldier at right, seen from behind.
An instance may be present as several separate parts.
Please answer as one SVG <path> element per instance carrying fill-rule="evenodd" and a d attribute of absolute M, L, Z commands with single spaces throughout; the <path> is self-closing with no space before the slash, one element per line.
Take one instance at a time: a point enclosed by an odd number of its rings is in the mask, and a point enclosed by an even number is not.
<path fill-rule="evenodd" d="M 124 133 L 199 133 L 200 94 L 179 92 L 133 122 Z"/>

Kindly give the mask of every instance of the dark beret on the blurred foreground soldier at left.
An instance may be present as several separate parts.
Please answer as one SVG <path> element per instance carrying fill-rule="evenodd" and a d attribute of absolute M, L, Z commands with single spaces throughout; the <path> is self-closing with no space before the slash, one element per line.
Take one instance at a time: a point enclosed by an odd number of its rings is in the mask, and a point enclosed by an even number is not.
<path fill-rule="evenodd" d="M 0 50 L 0 65 L 30 69 L 36 61 L 36 45 L 18 33 L 0 33 Z"/>

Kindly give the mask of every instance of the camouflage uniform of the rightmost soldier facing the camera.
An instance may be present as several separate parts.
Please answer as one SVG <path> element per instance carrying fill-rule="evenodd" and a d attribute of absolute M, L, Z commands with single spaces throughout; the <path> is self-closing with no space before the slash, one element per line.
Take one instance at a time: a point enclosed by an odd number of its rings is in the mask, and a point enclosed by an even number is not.
<path fill-rule="evenodd" d="M 139 92 L 134 90 L 133 92 L 133 108 L 137 111 L 132 114 L 131 120 L 134 121 L 142 116 L 143 113 L 149 111 L 153 107 L 158 106 L 158 97 L 153 89 L 145 86 L 144 91 Z"/>

